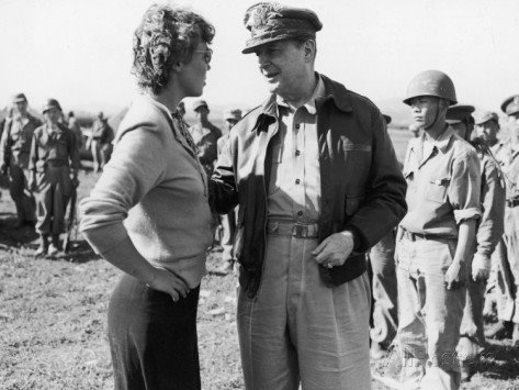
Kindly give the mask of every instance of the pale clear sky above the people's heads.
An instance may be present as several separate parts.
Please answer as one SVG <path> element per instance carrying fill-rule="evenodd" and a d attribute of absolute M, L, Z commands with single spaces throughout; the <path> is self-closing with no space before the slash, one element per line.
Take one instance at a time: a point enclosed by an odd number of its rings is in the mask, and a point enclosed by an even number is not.
<path fill-rule="evenodd" d="M 267 93 L 242 19 L 255 0 L 176 1 L 216 29 L 203 98 L 211 105 L 258 105 Z M 519 93 L 517 0 L 285 0 L 314 10 L 316 70 L 364 94 L 382 109 L 403 99 L 418 73 L 438 69 L 458 99 L 489 110 Z M 137 93 L 131 75 L 133 31 L 149 0 L 0 0 L 0 108 L 25 92 L 38 109 L 57 98 L 65 110 L 127 105 Z M 190 100 L 187 101 L 188 109 Z"/>

